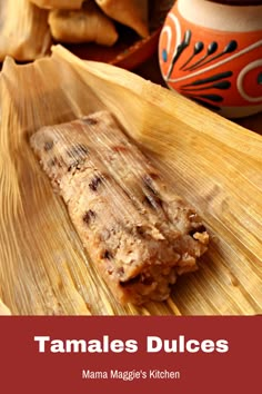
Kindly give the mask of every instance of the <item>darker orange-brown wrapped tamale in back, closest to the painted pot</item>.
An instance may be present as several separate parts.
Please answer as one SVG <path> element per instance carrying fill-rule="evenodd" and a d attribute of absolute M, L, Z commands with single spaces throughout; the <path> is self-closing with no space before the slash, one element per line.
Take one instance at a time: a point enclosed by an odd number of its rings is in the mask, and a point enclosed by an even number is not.
<path fill-rule="evenodd" d="M 149 36 L 148 0 L 95 0 L 95 2 L 110 18 L 129 26 L 141 37 Z"/>

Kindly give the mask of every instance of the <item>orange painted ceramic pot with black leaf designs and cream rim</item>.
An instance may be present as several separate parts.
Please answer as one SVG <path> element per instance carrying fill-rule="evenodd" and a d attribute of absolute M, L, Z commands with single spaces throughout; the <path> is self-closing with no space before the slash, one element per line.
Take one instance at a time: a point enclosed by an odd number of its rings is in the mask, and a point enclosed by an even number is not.
<path fill-rule="evenodd" d="M 183 96 L 228 118 L 260 112 L 262 1 L 178 0 L 159 60 L 167 85 Z"/>

